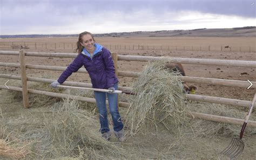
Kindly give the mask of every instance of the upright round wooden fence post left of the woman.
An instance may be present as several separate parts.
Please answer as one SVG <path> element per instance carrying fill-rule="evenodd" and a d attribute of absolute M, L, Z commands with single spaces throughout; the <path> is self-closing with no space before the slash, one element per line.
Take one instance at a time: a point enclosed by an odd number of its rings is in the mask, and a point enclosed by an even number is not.
<path fill-rule="evenodd" d="M 19 61 L 21 62 L 23 106 L 25 108 L 29 108 L 29 96 L 28 96 L 28 86 L 27 86 L 27 82 L 26 82 L 26 64 L 25 64 L 24 50 L 19 51 Z"/>

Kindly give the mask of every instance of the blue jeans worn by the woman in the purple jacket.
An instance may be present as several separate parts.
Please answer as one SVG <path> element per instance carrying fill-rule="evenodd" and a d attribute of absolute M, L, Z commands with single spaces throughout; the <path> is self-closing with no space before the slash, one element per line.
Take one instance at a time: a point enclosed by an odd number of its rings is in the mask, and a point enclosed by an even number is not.
<path fill-rule="evenodd" d="M 114 89 L 118 90 L 118 84 L 114 84 Z M 117 106 L 117 93 L 106 93 L 95 91 L 95 99 L 97 107 L 99 110 L 99 122 L 100 122 L 100 132 L 104 133 L 109 131 L 109 121 L 107 120 L 107 109 L 106 109 L 106 94 L 109 99 L 109 110 L 113 120 L 114 131 L 119 131 L 124 128 L 123 122 L 121 120 L 120 114 L 118 112 Z"/>

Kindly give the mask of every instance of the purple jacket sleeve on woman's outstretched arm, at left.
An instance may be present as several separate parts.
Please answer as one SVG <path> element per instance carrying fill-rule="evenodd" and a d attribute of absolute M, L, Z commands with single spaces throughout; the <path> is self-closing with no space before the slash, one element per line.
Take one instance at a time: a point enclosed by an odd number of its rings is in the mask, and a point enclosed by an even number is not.
<path fill-rule="evenodd" d="M 78 71 L 79 68 L 83 66 L 81 57 L 78 55 L 75 60 L 66 68 L 65 71 L 62 72 L 62 74 L 58 78 L 58 82 L 62 84 L 66 81 L 66 79 L 73 73 Z"/>

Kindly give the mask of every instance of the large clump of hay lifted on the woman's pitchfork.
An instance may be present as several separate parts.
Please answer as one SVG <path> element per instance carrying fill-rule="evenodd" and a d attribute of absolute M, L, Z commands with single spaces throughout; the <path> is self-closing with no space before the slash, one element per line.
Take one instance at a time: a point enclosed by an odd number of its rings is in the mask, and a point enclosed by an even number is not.
<path fill-rule="evenodd" d="M 166 61 L 147 63 L 142 75 L 133 85 L 136 96 L 130 99 L 126 125 L 130 134 L 141 129 L 164 126 L 174 133 L 190 120 L 183 84 L 178 72 L 165 68 Z"/>

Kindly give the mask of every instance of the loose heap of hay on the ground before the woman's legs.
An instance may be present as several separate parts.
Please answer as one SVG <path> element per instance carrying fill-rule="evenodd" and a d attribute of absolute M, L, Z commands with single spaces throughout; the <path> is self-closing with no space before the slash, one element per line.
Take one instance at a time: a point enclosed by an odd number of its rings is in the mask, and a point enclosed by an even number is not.
<path fill-rule="evenodd" d="M 77 101 L 65 100 L 52 108 L 44 127 L 30 130 L 24 139 L 33 141 L 31 158 L 114 158 L 124 156 L 118 144 L 106 141 L 99 133 L 99 122 L 91 113 L 80 110 Z"/>

